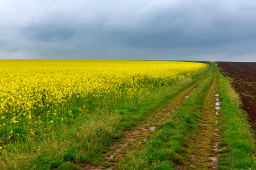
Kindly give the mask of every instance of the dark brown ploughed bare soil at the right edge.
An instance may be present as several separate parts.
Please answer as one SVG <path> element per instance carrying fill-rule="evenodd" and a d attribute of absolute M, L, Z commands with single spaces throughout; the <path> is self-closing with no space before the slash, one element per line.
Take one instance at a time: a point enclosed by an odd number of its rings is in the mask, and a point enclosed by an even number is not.
<path fill-rule="evenodd" d="M 217 62 L 222 74 L 233 79 L 232 86 L 240 95 L 241 108 L 256 134 L 256 62 Z"/>

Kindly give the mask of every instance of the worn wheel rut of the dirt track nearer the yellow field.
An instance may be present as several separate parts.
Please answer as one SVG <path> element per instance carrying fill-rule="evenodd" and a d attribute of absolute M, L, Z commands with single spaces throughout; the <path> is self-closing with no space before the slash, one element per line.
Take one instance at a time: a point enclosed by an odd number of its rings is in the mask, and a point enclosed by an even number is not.
<path fill-rule="evenodd" d="M 147 124 L 144 124 L 143 126 L 138 126 L 136 130 L 126 131 L 125 138 L 123 138 L 121 142 L 113 145 L 113 150 L 105 154 L 105 167 L 102 165 L 87 165 L 86 167 L 82 167 L 82 169 L 110 170 L 115 168 L 115 164 L 118 163 L 120 159 L 123 159 L 123 155 L 138 149 L 142 143 L 146 142 L 147 139 L 151 137 L 152 134 L 155 134 L 155 130 L 157 130 L 160 122 L 166 120 L 169 116 L 171 116 L 171 113 L 174 112 L 180 104 L 184 103 L 188 99 L 188 97 L 192 94 L 192 92 L 197 88 L 197 86 L 202 82 L 202 80 L 208 73 L 209 70 L 190 87 L 183 90 L 180 95 L 176 96 L 170 102 L 170 104 L 164 107 L 160 112 L 156 113 L 155 116 L 147 122 Z"/>

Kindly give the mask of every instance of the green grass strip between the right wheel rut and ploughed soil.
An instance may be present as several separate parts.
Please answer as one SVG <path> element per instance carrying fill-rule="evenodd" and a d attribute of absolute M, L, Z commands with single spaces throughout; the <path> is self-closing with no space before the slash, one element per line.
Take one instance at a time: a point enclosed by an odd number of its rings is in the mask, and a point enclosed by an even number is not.
<path fill-rule="evenodd" d="M 241 101 L 230 86 L 229 78 L 217 68 L 220 109 L 220 151 L 217 169 L 256 169 L 253 133 L 247 123 L 247 114 L 239 108 Z"/>

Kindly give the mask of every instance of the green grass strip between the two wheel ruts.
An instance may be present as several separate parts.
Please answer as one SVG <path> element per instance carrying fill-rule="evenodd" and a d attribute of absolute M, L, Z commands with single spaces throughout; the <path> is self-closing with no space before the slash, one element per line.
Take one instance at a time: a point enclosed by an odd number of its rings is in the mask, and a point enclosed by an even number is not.
<path fill-rule="evenodd" d="M 118 169 L 175 169 L 176 165 L 184 164 L 184 160 L 189 159 L 184 148 L 196 133 L 197 119 L 203 112 L 212 79 L 213 69 L 188 100 L 172 113 L 171 118 L 162 122 L 158 133 L 145 147 L 127 155 Z"/>

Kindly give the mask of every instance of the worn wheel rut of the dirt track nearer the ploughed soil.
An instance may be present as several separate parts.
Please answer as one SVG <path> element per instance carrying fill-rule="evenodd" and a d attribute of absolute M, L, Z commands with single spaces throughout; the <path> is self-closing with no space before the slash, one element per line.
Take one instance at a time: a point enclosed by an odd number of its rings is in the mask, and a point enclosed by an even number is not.
<path fill-rule="evenodd" d="M 221 108 L 221 101 L 217 92 L 216 75 L 213 72 L 210 91 L 205 103 L 205 110 L 198 122 L 197 136 L 192 139 L 189 148 L 191 160 L 189 166 L 184 169 L 216 169 L 218 152 L 224 147 L 218 146 L 220 136 L 220 124 L 218 124 L 218 110 Z"/>

